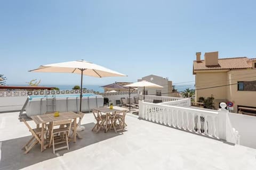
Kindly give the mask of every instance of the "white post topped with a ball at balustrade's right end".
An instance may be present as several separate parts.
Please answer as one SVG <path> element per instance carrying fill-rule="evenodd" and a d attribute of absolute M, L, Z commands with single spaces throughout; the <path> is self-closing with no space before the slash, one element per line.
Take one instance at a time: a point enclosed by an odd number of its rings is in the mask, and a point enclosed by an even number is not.
<path fill-rule="evenodd" d="M 219 138 L 221 140 L 227 140 L 227 115 L 228 111 L 225 109 L 227 106 L 226 103 L 220 104 L 220 109 L 218 110 L 218 116 L 219 116 Z"/>

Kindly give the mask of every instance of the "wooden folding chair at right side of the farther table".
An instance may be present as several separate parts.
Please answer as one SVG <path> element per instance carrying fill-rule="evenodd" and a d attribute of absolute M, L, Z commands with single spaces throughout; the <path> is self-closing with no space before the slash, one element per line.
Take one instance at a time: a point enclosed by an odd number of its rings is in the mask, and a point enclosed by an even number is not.
<path fill-rule="evenodd" d="M 110 128 L 113 128 L 115 132 L 124 131 L 126 111 L 118 111 L 110 117 Z M 118 128 L 118 129 L 117 129 Z"/>

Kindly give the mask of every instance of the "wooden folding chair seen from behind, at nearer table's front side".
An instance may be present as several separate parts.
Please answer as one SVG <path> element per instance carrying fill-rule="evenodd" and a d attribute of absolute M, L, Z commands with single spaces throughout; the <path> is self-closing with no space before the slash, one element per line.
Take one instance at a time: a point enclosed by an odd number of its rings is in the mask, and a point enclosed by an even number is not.
<path fill-rule="evenodd" d="M 70 131 L 70 128 L 71 128 L 71 121 L 72 120 L 54 121 L 54 122 L 52 122 L 49 148 L 52 145 L 52 147 L 53 147 L 53 154 L 55 154 L 55 151 L 60 150 L 60 149 L 66 149 L 67 148 L 69 150 L 68 135 L 69 135 L 69 131 Z M 59 128 L 54 129 L 54 126 L 59 126 Z M 57 136 L 56 136 L 56 134 L 57 134 Z M 55 135 L 55 137 L 54 137 L 54 135 Z M 66 140 L 63 140 L 62 137 L 65 137 Z M 56 140 L 56 139 L 60 139 L 60 140 L 58 142 L 55 142 L 54 140 Z M 66 142 L 66 146 L 55 148 L 55 145 L 58 145 L 60 143 L 65 143 L 65 142 Z"/>

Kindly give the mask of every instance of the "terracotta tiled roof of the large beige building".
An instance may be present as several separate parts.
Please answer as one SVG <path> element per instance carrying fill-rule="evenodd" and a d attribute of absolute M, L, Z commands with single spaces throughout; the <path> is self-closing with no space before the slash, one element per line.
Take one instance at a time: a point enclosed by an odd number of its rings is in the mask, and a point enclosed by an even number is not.
<path fill-rule="evenodd" d="M 193 62 L 193 68 L 195 70 L 225 70 L 225 69 L 249 69 L 252 68 L 250 59 L 247 57 L 236 58 L 220 58 L 218 60 L 219 65 L 205 66 L 205 61 Z"/>

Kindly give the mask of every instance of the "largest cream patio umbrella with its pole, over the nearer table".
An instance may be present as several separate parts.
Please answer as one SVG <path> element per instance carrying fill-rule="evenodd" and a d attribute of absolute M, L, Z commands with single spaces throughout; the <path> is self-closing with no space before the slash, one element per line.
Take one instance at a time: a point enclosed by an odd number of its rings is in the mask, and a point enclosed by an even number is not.
<path fill-rule="evenodd" d="M 77 60 L 71 62 L 63 62 L 56 64 L 41 65 L 38 69 L 30 70 L 30 72 L 55 72 L 55 73 L 76 73 L 81 74 L 81 92 L 80 92 L 80 109 L 82 107 L 82 87 L 83 87 L 83 75 L 88 75 L 91 77 L 123 77 L 124 74 L 118 73 L 116 71 L 107 69 L 103 66 L 87 62 L 84 60 Z"/>

